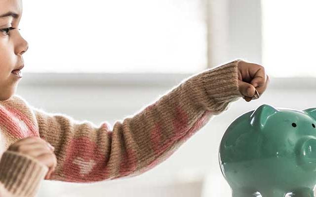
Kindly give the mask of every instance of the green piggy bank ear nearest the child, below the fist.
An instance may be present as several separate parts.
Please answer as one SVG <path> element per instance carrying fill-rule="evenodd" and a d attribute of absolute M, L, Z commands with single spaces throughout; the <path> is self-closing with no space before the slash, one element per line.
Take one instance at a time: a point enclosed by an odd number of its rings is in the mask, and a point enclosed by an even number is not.
<path fill-rule="evenodd" d="M 250 116 L 250 125 L 262 129 L 268 118 L 277 113 L 278 110 L 270 105 L 263 104 L 258 107 Z"/>

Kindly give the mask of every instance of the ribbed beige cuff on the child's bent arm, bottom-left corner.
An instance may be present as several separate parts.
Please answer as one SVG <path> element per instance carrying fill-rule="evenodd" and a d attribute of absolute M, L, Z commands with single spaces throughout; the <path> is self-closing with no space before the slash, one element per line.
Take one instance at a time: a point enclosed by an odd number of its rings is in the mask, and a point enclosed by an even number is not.
<path fill-rule="evenodd" d="M 0 182 L 18 197 L 34 197 L 47 171 L 47 166 L 13 151 L 5 151 L 0 160 Z"/>

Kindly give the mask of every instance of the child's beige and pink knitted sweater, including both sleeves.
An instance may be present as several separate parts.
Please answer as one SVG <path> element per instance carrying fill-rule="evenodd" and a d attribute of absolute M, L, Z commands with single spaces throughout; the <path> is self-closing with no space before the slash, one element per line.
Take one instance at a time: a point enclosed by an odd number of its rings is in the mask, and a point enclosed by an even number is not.
<path fill-rule="evenodd" d="M 39 136 L 55 147 L 50 180 L 92 183 L 142 174 L 170 157 L 212 117 L 241 97 L 237 64 L 184 79 L 113 129 L 30 105 L 19 95 L 0 101 L 0 197 L 34 197 L 48 167 L 7 148 Z M 1 148 L 1 147 L 0 147 Z"/>

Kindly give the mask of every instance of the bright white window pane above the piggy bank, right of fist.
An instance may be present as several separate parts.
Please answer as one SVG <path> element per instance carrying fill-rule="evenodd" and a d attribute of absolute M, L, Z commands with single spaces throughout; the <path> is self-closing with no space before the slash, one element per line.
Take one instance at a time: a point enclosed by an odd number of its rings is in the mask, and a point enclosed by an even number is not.
<path fill-rule="evenodd" d="M 316 77 L 316 1 L 262 0 L 263 65 L 274 77 Z"/>

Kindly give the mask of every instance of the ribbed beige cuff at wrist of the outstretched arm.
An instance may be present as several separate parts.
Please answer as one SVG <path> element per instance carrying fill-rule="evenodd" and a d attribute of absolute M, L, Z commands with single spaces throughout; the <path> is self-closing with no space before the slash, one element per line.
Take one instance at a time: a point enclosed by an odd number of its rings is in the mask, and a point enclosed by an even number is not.
<path fill-rule="evenodd" d="M 192 78 L 198 101 L 213 114 L 226 110 L 228 104 L 242 97 L 238 88 L 238 62 L 203 71 Z"/>

